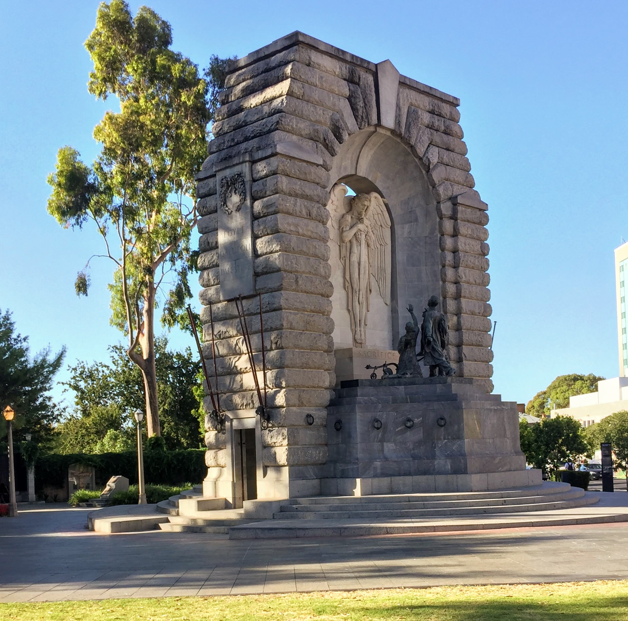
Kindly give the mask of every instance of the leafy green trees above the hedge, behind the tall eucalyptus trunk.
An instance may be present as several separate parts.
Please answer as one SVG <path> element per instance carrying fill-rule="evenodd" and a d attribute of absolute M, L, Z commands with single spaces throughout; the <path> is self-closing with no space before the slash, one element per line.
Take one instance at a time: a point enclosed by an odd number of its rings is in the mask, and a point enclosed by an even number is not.
<path fill-rule="evenodd" d="M 143 409 L 143 378 L 122 345 L 109 348 L 109 364 L 78 361 L 62 382 L 74 393 L 75 408 L 60 425 L 62 452 L 106 453 L 135 445 L 133 412 Z M 162 435 L 168 449 L 198 448 L 201 408 L 200 362 L 190 348 L 173 352 L 168 340 L 155 340 L 157 390 Z M 202 397 L 201 397 L 202 399 Z"/>

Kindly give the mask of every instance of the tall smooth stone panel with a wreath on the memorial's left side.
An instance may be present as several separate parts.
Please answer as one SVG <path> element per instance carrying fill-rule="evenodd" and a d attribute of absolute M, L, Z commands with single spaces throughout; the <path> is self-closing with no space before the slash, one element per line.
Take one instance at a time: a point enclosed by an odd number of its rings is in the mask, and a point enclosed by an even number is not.
<path fill-rule="evenodd" d="M 217 180 L 222 189 L 218 208 L 222 300 L 254 293 L 251 198 L 249 184 L 242 182 L 244 172 L 229 171 Z"/>

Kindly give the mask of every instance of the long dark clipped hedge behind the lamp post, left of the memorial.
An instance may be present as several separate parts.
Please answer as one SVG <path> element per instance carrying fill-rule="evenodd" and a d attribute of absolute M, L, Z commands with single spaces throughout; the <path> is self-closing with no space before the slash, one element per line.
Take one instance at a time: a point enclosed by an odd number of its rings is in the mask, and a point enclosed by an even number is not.
<path fill-rule="evenodd" d="M 144 481 L 176 485 L 185 481 L 200 483 L 205 474 L 205 450 L 190 448 L 180 451 L 145 451 Z M 122 475 L 131 485 L 138 482 L 138 455 L 134 451 L 87 455 L 40 455 L 35 461 L 35 490 L 45 487 L 63 488 L 72 464 L 93 467 L 97 487 L 104 487 L 109 478 Z"/>

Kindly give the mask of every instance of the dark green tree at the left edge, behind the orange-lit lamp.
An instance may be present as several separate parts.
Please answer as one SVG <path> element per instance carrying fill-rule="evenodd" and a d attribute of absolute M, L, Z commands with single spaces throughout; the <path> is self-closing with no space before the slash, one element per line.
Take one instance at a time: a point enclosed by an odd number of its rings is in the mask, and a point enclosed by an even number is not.
<path fill-rule="evenodd" d="M 15 428 L 30 433 L 31 442 L 42 448 L 50 445 L 60 409 L 48 394 L 60 369 L 65 348 L 51 355 L 50 348 L 32 359 L 28 337 L 16 333 L 11 313 L 0 310 L 0 410 L 10 405 L 16 412 Z M 6 421 L 0 415 L 0 438 L 6 435 Z"/>

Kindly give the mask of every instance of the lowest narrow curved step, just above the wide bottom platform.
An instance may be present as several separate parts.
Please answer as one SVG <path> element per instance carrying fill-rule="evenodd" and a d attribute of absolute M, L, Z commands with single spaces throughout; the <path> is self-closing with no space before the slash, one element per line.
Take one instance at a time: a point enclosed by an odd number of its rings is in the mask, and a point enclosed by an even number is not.
<path fill-rule="evenodd" d="M 319 519 L 419 519 L 441 516 L 475 516 L 497 513 L 521 513 L 533 511 L 551 511 L 573 509 L 587 504 L 594 504 L 597 499 L 575 497 L 573 500 L 558 502 L 533 502 L 529 504 L 488 505 L 482 507 L 447 507 L 442 509 L 398 509 L 398 510 L 333 510 L 333 511 L 296 511 L 277 512 L 273 518 L 277 520 L 319 520 Z"/>

